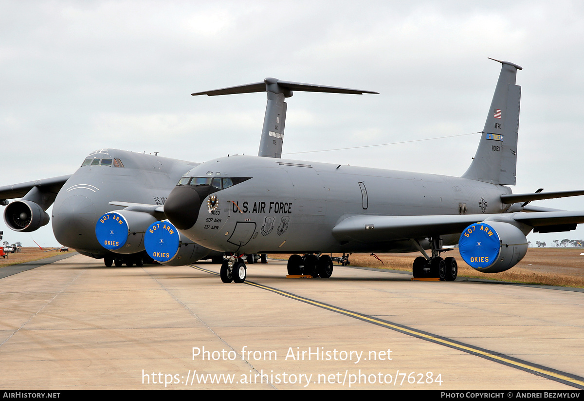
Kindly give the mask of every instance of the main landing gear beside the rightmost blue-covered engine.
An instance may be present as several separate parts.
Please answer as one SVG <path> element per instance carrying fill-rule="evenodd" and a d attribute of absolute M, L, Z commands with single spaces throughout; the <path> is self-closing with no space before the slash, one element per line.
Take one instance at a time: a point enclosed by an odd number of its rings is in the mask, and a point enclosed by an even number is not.
<path fill-rule="evenodd" d="M 458 275 L 458 265 L 456 259 L 447 257 L 443 259 L 440 253 L 450 251 L 451 248 L 442 248 L 440 237 L 428 238 L 432 248 L 432 257 L 420 246 L 418 240 L 412 240 L 416 248 L 424 255 L 413 261 L 412 274 L 414 278 L 439 278 L 441 281 L 454 281 Z"/>

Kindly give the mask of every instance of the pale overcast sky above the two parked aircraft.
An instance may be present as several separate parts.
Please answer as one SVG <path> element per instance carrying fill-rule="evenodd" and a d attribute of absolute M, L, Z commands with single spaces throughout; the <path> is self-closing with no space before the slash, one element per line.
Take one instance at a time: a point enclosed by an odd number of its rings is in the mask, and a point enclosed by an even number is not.
<path fill-rule="evenodd" d="M 0 1 L 0 185 L 72 174 L 97 148 L 199 161 L 257 154 L 266 95 L 190 96 L 262 81 L 296 92 L 287 158 L 460 176 L 500 64 L 522 65 L 513 192 L 584 189 L 584 6 L 525 1 Z M 584 209 L 584 198 L 534 202 Z M 1 208 L 4 209 L 4 208 Z M 50 213 L 50 210 L 48 210 Z M 57 245 L 51 224 L 5 240 Z M 569 233 L 530 234 L 548 245 Z"/>

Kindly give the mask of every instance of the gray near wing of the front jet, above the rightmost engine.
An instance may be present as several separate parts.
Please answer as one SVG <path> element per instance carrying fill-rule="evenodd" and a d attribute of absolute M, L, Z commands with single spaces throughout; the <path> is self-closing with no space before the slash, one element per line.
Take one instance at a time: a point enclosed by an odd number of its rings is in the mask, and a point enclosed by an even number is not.
<path fill-rule="evenodd" d="M 566 224 L 584 223 L 584 210 L 557 212 L 517 212 L 498 215 L 437 215 L 437 216 L 352 216 L 338 223 L 332 230 L 339 241 L 362 243 L 426 238 L 461 233 L 470 224 L 502 221 L 527 224 L 531 227 L 550 227 L 551 231 L 565 231 Z M 558 227 L 557 230 L 554 227 Z"/>

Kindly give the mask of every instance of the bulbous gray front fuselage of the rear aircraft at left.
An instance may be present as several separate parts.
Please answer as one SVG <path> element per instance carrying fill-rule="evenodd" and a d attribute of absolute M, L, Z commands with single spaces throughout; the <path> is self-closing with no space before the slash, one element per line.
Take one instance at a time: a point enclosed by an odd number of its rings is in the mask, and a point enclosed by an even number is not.
<path fill-rule="evenodd" d="M 116 255 L 95 235 L 99 217 L 120 209 L 109 202 L 164 205 L 180 177 L 198 165 L 117 149 L 89 154 L 83 164 L 55 198 L 51 221 L 59 243 L 95 258 Z"/>

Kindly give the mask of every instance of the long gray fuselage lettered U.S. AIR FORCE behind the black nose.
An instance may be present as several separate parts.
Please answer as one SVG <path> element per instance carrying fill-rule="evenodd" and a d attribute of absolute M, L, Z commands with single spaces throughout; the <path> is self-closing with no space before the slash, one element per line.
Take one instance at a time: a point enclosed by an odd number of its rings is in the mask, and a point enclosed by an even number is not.
<path fill-rule="evenodd" d="M 204 185 L 177 186 L 165 206 L 171 222 L 167 208 L 176 207 L 173 198 L 188 201 L 196 191 L 199 201 L 191 203 L 192 215 L 186 219 L 187 226 L 194 224 L 186 227 L 183 221 L 183 234 L 201 246 L 246 254 L 413 251 L 409 238 L 339 241 L 333 227 L 363 215 L 503 213 L 510 205 L 500 195 L 511 192 L 503 185 L 443 175 L 253 156 L 211 160 L 188 176 L 238 183 L 209 186 L 210 191 Z M 459 235 L 444 237 L 444 244 L 456 244 Z"/>

